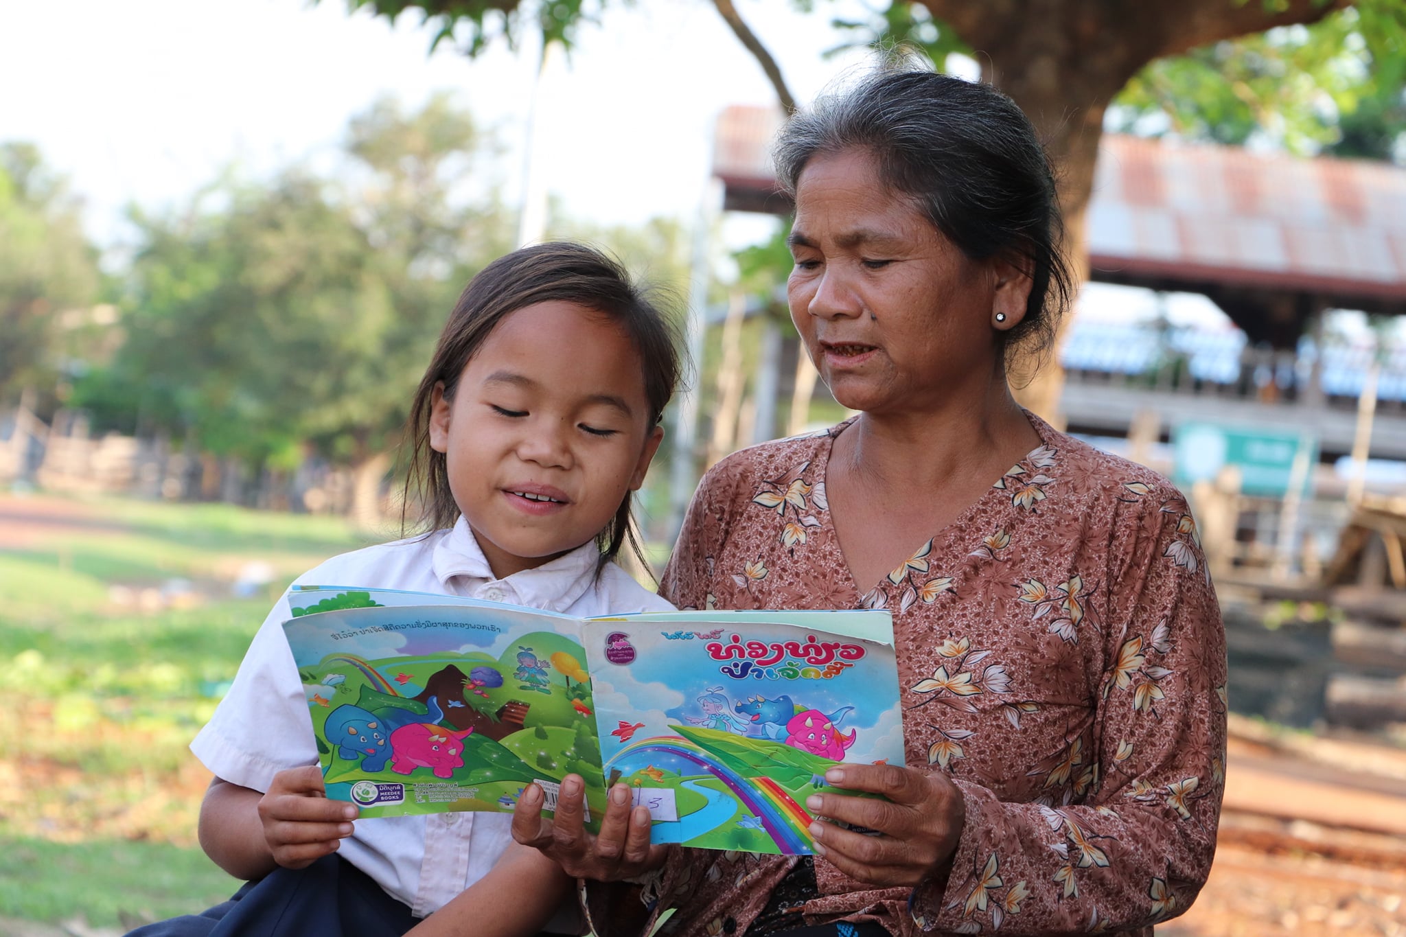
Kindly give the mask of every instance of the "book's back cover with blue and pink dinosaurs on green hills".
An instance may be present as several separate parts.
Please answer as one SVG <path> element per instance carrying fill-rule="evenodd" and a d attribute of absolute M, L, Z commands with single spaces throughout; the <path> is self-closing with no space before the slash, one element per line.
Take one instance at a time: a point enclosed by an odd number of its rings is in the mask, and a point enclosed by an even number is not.
<path fill-rule="evenodd" d="M 527 784 L 550 792 L 575 773 L 599 819 L 605 778 L 578 620 L 391 590 L 301 590 L 290 601 L 297 617 L 284 632 L 329 798 L 363 816 L 510 812 Z"/>

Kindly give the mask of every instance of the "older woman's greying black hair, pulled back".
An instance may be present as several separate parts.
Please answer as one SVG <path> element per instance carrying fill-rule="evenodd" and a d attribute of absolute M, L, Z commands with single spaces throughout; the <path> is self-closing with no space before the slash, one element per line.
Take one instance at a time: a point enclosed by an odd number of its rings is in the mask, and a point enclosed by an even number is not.
<path fill-rule="evenodd" d="M 820 98 L 780 132 L 778 181 L 794 197 L 811 157 L 848 149 L 873 155 L 894 192 L 917 201 L 972 260 L 1004 256 L 1029 273 L 1021 323 L 1002 333 L 1035 361 L 1050 348 L 1074 277 L 1049 157 L 1029 119 L 990 84 L 936 74 L 896 56 L 858 84 Z"/>

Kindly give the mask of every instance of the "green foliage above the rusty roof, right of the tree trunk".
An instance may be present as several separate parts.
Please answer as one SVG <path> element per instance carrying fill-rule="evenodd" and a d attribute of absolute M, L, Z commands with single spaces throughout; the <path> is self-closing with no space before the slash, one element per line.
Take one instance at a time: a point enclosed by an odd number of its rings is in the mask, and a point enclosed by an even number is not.
<path fill-rule="evenodd" d="M 1392 159 L 1406 132 L 1403 89 L 1406 3 L 1361 0 L 1313 25 L 1152 62 L 1109 121 L 1119 131 Z"/>

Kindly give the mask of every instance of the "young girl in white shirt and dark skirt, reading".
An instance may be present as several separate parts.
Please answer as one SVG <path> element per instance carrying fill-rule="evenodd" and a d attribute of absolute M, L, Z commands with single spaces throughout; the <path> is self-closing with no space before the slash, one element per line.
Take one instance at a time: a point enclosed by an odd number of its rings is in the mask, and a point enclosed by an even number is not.
<path fill-rule="evenodd" d="M 678 378 L 672 327 L 619 264 L 567 243 L 494 261 L 460 296 L 411 409 L 406 503 L 419 496 L 432 532 L 336 556 L 298 582 L 571 615 L 671 608 L 612 561 L 627 542 L 638 552 L 631 499 Z M 512 843 L 509 815 L 356 823 L 353 805 L 323 797 L 288 618 L 284 596 L 191 743 L 217 775 L 201 846 L 262 881 L 139 933 L 401 934 L 461 892 L 425 931 L 574 930 L 574 902 L 553 922 L 568 881 Z"/>

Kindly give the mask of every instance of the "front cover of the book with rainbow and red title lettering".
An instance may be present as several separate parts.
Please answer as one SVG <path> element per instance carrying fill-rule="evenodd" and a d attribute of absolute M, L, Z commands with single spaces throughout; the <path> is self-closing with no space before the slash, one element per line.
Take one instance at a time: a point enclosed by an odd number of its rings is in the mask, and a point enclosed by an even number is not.
<path fill-rule="evenodd" d="M 807 854 L 806 798 L 827 787 L 830 767 L 904 763 L 893 646 L 780 624 L 789 614 L 583 628 L 606 782 L 624 781 L 650 808 L 652 841 Z M 851 627 L 883 634 L 858 618 L 887 612 L 853 614 Z M 825 615 L 845 624 L 844 612 Z"/>

